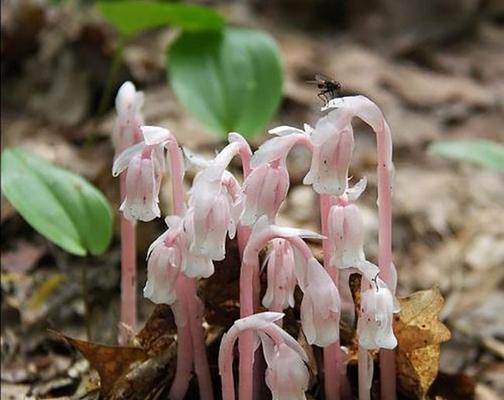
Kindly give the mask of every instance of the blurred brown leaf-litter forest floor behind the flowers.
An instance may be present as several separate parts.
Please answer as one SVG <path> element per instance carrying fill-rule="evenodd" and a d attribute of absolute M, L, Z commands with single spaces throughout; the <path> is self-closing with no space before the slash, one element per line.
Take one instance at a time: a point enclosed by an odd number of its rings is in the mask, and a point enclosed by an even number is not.
<path fill-rule="evenodd" d="M 316 122 L 320 100 L 317 89 L 306 84 L 316 73 L 339 81 L 343 95 L 363 94 L 382 108 L 394 140 L 398 293 L 439 286 L 445 297 L 442 318 L 452 331 L 442 347 L 441 371 L 463 375 L 457 385 L 472 385 L 478 399 L 502 398 L 504 175 L 429 148 L 447 140 L 504 142 L 504 2 L 183 3 L 212 7 L 229 25 L 268 32 L 277 42 L 283 93 L 267 128 Z M 84 176 L 117 210 L 113 99 L 120 84 L 131 80 L 145 93 L 146 123 L 168 127 L 181 144 L 212 155 L 224 139 L 191 115 L 167 81 L 166 49 L 176 35 L 176 29 L 160 27 L 125 42 L 110 83 L 119 36 L 93 1 L 2 0 L 2 149 L 20 146 Z M 253 146 L 265 140 L 266 131 L 251 139 Z M 357 125 L 351 173 L 354 181 L 368 177 L 370 190 L 361 205 L 371 260 L 378 224 L 375 160 L 372 132 Z M 308 167 L 309 155 L 296 149 L 279 224 L 319 229 L 317 198 L 302 185 Z M 162 209 L 168 208 L 163 202 Z M 34 232 L 3 196 L 1 227 L 2 399 L 82 394 L 82 371 L 89 367 L 46 330 L 83 336 L 75 268 L 82 260 Z M 143 254 L 162 229 L 162 221 L 139 224 L 139 291 L 145 282 Z M 119 300 L 117 235 L 106 253 L 87 262 L 93 339 L 112 344 Z M 238 270 L 229 268 L 227 286 L 219 285 L 220 276 L 202 288 L 211 325 L 230 318 L 218 310 L 236 315 L 229 301 L 236 297 Z M 139 307 L 145 321 L 153 306 L 140 297 Z"/>

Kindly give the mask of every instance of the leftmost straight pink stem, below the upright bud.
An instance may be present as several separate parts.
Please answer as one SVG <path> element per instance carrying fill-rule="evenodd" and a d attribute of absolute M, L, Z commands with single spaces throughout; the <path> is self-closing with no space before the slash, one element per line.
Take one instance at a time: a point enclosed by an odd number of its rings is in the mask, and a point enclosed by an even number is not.
<path fill-rule="evenodd" d="M 119 185 L 122 201 L 126 193 L 125 174 L 121 174 Z M 135 329 L 137 321 L 135 230 L 135 222 L 121 216 L 121 326 L 119 327 L 119 344 L 121 345 L 128 342 L 131 329 Z"/>

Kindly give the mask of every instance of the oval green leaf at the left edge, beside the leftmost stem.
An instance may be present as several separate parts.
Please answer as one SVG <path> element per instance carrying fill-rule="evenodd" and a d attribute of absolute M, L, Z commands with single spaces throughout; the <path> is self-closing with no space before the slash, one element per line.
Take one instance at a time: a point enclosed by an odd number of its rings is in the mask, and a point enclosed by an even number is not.
<path fill-rule="evenodd" d="M 69 253 L 101 254 L 110 244 L 110 205 L 79 175 L 21 149 L 6 149 L 2 192 L 35 230 Z"/>

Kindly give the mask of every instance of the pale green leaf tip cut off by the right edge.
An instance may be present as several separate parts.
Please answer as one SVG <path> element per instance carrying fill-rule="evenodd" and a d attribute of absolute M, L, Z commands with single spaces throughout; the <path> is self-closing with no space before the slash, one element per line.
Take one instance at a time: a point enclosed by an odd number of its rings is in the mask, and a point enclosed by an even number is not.
<path fill-rule="evenodd" d="M 429 146 L 429 153 L 504 171 L 504 145 L 491 140 L 439 141 Z"/>

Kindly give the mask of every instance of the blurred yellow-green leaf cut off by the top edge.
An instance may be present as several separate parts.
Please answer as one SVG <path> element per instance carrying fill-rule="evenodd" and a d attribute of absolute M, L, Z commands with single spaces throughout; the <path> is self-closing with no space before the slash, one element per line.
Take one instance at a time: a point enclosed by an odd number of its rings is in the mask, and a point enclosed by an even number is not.
<path fill-rule="evenodd" d="M 105 19 L 125 36 L 158 28 L 174 26 L 185 31 L 219 30 L 224 18 L 211 8 L 148 1 L 99 1 L 98 10 Z"/>

